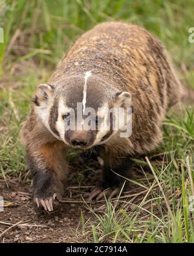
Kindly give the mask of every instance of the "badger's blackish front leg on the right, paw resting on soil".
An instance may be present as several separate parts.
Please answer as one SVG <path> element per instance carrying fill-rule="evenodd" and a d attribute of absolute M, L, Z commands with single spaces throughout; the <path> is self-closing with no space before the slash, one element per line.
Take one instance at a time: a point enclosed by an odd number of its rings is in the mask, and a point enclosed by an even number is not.
<path fill-rule="evenodd" d="M 128 181 L 125 178 L 131 176 L 131 169 L 133 167 L 133 161 L 124 158 L 119 161 L 116 165 L 109 165 L 104 163 L 102 181 L 92 190 L 89 195 L 89 201 L 96 198 L 96 201 L 100 200 L 105 196 L 106 198 L 113 198 L 117 196 L 122 187 L 125 184 L 127 188 Z M 122 191 L 123 192 L 123 191 Z"/>

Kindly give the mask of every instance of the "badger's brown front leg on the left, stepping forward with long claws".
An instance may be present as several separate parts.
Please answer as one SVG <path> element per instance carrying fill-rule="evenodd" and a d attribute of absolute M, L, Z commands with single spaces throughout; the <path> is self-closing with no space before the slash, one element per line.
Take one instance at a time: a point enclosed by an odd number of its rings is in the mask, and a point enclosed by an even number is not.
<path fill-rule="evenodd" d="M 32 174 L 34 202 L 46 211 L 53 211 L 53 201 L 63 194 L 67 176 L 64 146 L 47 143 L 33 150 L 27 149 L 27 163 Z"/>

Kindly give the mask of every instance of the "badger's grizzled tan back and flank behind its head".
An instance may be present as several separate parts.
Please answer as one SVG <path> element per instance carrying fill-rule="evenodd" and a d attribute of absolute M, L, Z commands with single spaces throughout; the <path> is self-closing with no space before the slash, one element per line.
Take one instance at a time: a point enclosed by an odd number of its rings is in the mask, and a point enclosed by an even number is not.
<path fill-rule="evenodd" d="M 167 107 L 180 97 L 180 83 L 160 41 L 137 25 L 102 23 L 78 38 L 49 82 L 87 71 L 131 93 L 134 152 L 155 148 Z"/>

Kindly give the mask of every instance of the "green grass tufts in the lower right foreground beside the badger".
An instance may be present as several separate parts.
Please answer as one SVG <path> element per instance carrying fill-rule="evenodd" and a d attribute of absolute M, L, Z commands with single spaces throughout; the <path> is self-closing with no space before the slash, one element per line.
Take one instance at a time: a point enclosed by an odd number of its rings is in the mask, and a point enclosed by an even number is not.
<path fill-rule="evenodd" d="M 193 130 L 192 134 L 189 132 L 194 125 L 190 122 L 192 115 L 193 110 L 186 113 L 184 120 L 182 116 L 168 118 L 164 142 L 156 152 L 163 152 L 162 161 L 149 156 L 162 191 L 153 175 L 145 170 L 147 162 L 142 159 L 142 175 L 135 180 L 140 184 L 130 194 L 145 192 L 133 197 L 129 194 L 127 199 L 121 196 L 116 202 L 107 201 L 104 215 L 88 207 L 96 222 L 94 225 L 93 220 L 85 223 L 81 219 L 86 241 L 91 236 L 98 242 L 194 242 L 194 211 L 189 210 L 194 167 L 194 135 Z M 184 128 L 183 123 L 188 127 Z M 175 134 L 173 139 L 172 134 Z"/>

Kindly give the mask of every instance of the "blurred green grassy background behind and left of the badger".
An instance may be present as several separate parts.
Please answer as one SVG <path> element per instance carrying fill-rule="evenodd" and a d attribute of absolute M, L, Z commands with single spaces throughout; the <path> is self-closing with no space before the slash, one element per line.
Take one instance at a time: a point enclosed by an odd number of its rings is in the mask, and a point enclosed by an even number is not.
<path fill-rule="evenodd" d="M 194 87 L 194 43 L 188 40 L 193 13 L 193 0 L 0 0 L 1 171 L 26 169 L 19 131 L 34 89 L 47 81 L 76 38 L 99 22 L 146 27 L 166 46 L 182 82 Z"/>

